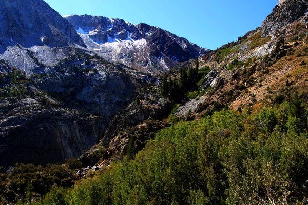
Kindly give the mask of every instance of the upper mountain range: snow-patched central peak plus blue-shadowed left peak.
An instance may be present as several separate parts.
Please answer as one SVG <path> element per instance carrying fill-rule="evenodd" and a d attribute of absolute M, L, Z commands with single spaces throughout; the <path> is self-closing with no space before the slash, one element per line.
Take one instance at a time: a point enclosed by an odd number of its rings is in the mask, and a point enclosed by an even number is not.
<path fill-rule="evenodd" d="M 65 19 L 43 0 L 0 3 L 0 59 L 27 75 L 59 64 L 75 48 L 152 74 L 210 51 L 146 24 L 88 15 Z"/>

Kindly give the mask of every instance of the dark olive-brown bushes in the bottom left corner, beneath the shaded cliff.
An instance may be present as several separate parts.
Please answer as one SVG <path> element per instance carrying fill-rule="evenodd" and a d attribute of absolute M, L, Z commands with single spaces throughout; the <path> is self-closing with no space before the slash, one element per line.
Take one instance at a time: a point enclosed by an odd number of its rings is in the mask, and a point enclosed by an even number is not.
<path fill-rule="evenodd" d="M 54 185 L 71 187 L 75 181 L 72 171 L 62 165 L 17 164 L 12 173 L 0 176 L 0 201 L 3 196 L 7 201 L 21 204 L 40 198 Z"/>

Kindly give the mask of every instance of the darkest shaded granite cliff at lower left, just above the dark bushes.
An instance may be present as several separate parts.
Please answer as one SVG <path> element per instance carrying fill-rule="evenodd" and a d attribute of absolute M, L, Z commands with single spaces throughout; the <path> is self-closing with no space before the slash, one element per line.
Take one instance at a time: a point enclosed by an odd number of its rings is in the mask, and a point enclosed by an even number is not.
<path fill-rule="evenodd" d="M 0 100 L 0 166 L 63 163 L 92 147 L 106 129 L 102 117 L 61 108 L 49 100 L 51 107 L 42 105 L 40 97 Z"/>

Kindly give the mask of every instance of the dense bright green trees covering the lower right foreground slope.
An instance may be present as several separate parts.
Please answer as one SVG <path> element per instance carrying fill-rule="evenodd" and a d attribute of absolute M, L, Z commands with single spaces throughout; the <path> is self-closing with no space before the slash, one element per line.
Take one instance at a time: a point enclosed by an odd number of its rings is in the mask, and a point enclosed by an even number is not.
<path fill-rule="evenodd" d="M 307 179 L 307 115 L 295 95 L 163 129 L 133 160 L 40 203 L 303 204 Z"/>

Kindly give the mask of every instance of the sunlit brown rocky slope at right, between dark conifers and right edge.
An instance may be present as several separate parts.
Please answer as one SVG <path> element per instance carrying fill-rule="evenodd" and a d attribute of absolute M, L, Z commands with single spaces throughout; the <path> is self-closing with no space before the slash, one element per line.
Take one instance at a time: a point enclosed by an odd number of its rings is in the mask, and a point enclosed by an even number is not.
<path fill-rule="evenodd" d="M 213 101 L 219 109 L 225 105 L 238 109 L 271 105 L 276 95 L 287 96 L 291 90 L 306 95 L 308 3 L 287 0 L 279 5 L 261 27 L 199 58 L 200 67 L 211 70 L 199 83 L 202 97 L 181 106 L 178 116 L 186 116 L 189 110 L 202 116 L 213 108 Z"/>

